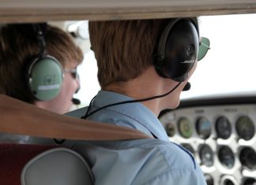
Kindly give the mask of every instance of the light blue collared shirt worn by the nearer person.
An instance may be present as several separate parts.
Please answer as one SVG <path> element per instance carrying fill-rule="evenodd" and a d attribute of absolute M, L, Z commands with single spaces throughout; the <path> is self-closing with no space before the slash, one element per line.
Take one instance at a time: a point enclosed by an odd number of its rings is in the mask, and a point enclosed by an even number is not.
<path fill-rule="evenodd" d="M 133 99 L 100 91 L 92 102 L 90 112 L 129 100 Z M 78 109 L 69 115 L 82 117 L 86 109 Z M 96 184 L 206 185 L 205 177 L 192 154 L 170 142 L 160 121 L 140 102 L 101 109 L 88 120 L 135 128 L 157 138 L 74 144 L 73 149 L 82 154 L 91 166 Z"/>

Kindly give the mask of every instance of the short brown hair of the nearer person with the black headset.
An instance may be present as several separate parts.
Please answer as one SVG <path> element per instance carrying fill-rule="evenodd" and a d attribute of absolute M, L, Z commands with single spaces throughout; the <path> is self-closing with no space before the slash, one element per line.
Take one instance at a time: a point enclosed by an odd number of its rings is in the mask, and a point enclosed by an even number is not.
<path fill-rule="evenodd" d="M 98 65 L 100 87 L 104 89 L 111 83 L 127 82 L 145 72 L 153 63 L 160 31 L 168 21 L 89 21 L 88 30 Z"/>

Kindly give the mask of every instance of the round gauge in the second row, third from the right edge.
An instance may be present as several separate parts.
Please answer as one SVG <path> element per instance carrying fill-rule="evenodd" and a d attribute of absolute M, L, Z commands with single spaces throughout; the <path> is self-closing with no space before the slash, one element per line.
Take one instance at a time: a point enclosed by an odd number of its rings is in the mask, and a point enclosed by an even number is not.
<path fill-rule="evenodd" d="M 207 167 L 213 165 L 213 150 L 208 145 L 201 146 L 199 156 L 201 159 L 201 165 L 205 165 Z"/>

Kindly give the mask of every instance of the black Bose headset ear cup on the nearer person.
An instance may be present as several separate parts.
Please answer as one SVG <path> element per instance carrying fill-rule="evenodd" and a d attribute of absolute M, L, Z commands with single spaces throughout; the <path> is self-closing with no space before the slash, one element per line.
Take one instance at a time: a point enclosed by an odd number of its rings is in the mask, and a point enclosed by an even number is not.
<path fill-rule="evenodd" d="M 153 57 L 156 72 L 177 82 L 186 80 L 195 61 L 201 60 L 209 49 L 209 43 L 201 45 L 197 17 L 171 19 L 157 46 Z"/>

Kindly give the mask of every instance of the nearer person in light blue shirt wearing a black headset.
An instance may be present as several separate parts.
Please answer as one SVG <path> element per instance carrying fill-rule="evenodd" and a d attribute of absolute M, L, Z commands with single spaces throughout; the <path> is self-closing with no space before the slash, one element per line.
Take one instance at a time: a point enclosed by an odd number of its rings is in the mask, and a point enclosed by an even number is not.
<path fill-rule="evenodd" d="M 98 21 L 88 28 L 101 91 L 70 116 L 152 137 L 77 142 L 73 149 L 91 165 L 96 184 L 206 184 L 193 155 L 170 142 L 157 119 L 161 110 L 179 105 L 197 66 L 197 18 Z"/>

